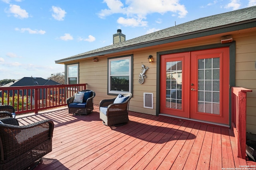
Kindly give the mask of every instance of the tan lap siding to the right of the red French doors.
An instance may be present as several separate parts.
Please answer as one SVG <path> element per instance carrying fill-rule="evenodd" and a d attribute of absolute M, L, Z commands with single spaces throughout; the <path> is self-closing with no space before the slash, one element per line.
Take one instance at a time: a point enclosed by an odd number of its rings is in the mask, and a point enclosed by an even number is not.
<path fill-rule="evenodd" d="M 248 88 L 246 131 L 256 133 L 256 31 L 233 37 L 236 41 L 236 86 Z"/>

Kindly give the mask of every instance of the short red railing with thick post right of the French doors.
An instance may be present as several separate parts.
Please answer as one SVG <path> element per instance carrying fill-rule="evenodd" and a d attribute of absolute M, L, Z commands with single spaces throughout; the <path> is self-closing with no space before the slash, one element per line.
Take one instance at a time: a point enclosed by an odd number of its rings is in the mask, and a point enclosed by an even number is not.
<path fill-rule="evenodd" d="M 232 101 L 231 101 L 231 113 L 232 113 L 232 127 L 237 139 L 239 158 L 246 158 L 246 93 L 252 92 L 252 90 L 232 87 Z"/>

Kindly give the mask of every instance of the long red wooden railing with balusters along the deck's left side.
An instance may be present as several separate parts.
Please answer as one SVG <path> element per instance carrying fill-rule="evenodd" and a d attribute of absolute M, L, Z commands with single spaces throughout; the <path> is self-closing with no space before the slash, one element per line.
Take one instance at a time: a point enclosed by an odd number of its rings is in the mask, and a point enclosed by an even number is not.
<path fill-rule="evenodd" d="M 66 105 L 66 99 L 85 90 L 86 84 L 0 87 L 0 105 L 11 105 L 16 114 Z"/>

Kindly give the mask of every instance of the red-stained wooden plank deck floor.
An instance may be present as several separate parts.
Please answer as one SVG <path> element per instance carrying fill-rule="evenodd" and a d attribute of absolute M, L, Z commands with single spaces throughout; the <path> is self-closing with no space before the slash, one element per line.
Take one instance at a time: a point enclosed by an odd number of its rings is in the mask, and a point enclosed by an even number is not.
<path fill-rule="evenodd" d="M 107 127 L 98 106 L 90 115 L 68 114 L 67 107 L 18 115 L 20 125 L 54 121 L 53 149 L 35 170 L 222 170 L 256 168 L 236 156 L 231 129 L 129 112 L 123 126 Z M 251 167 L 250 167 L 251 166 Z"/>

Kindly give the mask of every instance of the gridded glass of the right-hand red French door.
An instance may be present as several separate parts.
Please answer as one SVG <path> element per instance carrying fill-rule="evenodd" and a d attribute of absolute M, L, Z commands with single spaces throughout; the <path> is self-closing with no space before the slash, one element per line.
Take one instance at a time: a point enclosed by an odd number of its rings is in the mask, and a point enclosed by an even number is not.
<path fill-rule="evenodd" d="M 220 114 L 220 58 L 198 60 L 198 111 Z"/>

